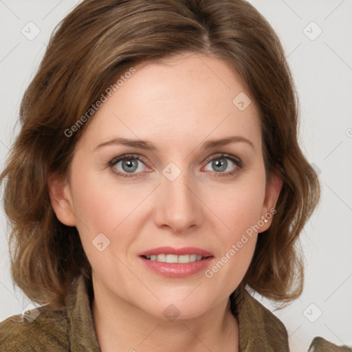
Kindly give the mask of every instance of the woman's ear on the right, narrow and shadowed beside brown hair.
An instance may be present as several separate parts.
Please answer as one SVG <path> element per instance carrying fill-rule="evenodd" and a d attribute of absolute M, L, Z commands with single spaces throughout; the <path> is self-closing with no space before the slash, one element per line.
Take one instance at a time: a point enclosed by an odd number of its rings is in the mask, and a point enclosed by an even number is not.
<path fill-rule="evenodd" d="M 270 228 L 270 225 L 272 224 L 272 218 L 276 213 L 276 202 L 278 200 L 278 196 L 280 195 L 282 187 L 283 180 L 278 177 L 276 173 L 272 173 L 270 175 L 270 179 L 265 190 L 265 199 L 263 203 L 263 208 L 261 210 L 261 220 L 267 219 L 267 222 L 264 222 L 264 225 L 261 226 L 261 230 L 259 231 L 259 233 L 264 232 L 265 230 Z"/>

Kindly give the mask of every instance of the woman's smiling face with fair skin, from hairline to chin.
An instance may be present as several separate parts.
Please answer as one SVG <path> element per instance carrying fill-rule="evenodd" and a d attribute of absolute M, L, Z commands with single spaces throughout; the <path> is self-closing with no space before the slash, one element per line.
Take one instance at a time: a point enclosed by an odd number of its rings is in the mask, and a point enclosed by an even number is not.
<path fill-rule="evenodd" d="M 159 318 L 228 300 L 277 195 L 249 96 L 224 61 L 190 54 L 136 66 L 102 103 L 61 206 L 52 198 L 78 229 L 95 287 Z"/>

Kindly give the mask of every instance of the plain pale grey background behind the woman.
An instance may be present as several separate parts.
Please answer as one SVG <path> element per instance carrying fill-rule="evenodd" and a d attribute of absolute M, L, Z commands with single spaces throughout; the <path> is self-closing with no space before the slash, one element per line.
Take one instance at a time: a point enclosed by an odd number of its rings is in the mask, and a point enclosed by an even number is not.
<path fill-rule="evenodd" d="M 19 128 L 14 126 L 25 87 L 54 26 L 78 2 L 0 0 L 1 169 Z M 300 97 L 300 145 L 322 184 L 320 206 L 301 236 L 303 295 L 274 314 L 287 328 L 292 352 L 307 351 L 314 336 L 352 345 L 352 1 L 250 3 L 272 24 L 285 48 Z M 0 226 L 1 321 L 20 314 L 30 300 L 12 285 L 2 209 Z"/>

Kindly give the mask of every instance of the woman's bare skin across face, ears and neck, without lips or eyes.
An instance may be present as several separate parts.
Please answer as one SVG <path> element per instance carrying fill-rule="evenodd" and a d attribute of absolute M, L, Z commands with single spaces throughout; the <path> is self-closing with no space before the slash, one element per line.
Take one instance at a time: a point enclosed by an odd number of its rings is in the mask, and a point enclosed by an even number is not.
<path fill-rule="evenodd" d="M 91 263 L 100 347 L 104 352 L 236 351 L 239 325 L 228 297 L 248 270 L 257 234 L 212 278 L 204 271 L 164 277 L 146 268 L 137 254 L 162 245 L 194 246 L 212 252 L 216 263 L 274 208 L 282 182 L 271 175 L 265 183 L 258 111 L 253 99 L 244 111 L 232 103 L 240 92 L 250 93 L 219 58 L 185 54 L 135 69 L 85 126 L 69 181 L 53 175 L 49 182 L 58 219 L 76 226 Z M 234 135 L 253 146 L 201 146 Z M 120 144 L 97 149 L 116 137 L 148 140 L 157 149 Z M 133 177 L 118 176 L 129 174 L 122 162 L 109 162 L 131 153 L 145 163 L 135 160 Z M 241 159 L 243 168 L 226 159 L 227 168 L 219 171 L 211 162 L 221 159 L 216 153 Z M 173 181 L 162 173 L 170 162 L 181 171 Z M 102 252 L 92 245 L 101 232 L 110 240 Z M 180 312 L 173 321 L 163 315 L 170 304 Z"/>

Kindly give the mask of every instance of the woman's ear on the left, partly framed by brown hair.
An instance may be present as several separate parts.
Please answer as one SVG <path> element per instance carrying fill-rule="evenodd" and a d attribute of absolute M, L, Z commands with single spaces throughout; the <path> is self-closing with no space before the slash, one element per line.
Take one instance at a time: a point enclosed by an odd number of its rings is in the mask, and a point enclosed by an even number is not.
<path fill-rule="evenodd" d="M 62 177 L 57 173 L 52 173 L 48 177 L 47 186 L 49 188 L 50 201 L 58 220 L 64 225 L 76 226 L 69 184 L 63 181 Z"/>

